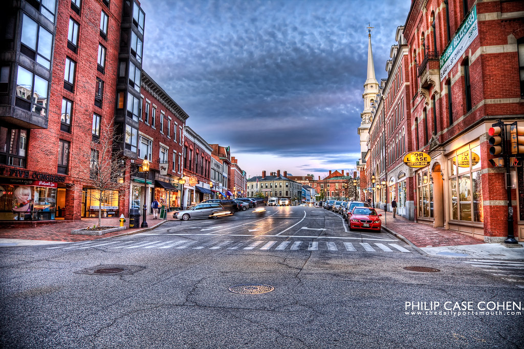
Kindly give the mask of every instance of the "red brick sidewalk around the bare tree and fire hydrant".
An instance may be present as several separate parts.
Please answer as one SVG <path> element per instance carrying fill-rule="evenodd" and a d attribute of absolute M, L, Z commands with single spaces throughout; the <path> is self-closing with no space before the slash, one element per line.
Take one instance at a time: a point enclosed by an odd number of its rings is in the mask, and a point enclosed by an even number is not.
<path fill-rule="evenodd" d="M 168 216 L 169 217 L 169 216 Z M 82 229 L 88 226 L 98 224 L 98 218 L 82 218 L 80 221 L 63 221 L 46 225 L 39 225 L 33 227 L 23 228 L 6 228 L 0 229 L 0 238 L 4 239 L 26 239 L 26 240 L 43 240 L 43 241 L 64 241 L 77 242 L 86 240 L 95 240 L 104 237 L 111 237 L 122 234 L 133 234 L 142 230 L 150 230 L 152 227 L 163 222 L 162 220 L 154 220 L 152 215 L 147 216 L 148 228 L 133 228 L 129 229 L 129 218 L 126 218 L 124 226 L 127 228 L 118 232 L 107 233 L 104 235 L 73 235 L 72 230 Z M 140 224 L 142 217 L 140 217 Z M 120 226 L 119 218 L 103 218 L 102 226 Z"/>

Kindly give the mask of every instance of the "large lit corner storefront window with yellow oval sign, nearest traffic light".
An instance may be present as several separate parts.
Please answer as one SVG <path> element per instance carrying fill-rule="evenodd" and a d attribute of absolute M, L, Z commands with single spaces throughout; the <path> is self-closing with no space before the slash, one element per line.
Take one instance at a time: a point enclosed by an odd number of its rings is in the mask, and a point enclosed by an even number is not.
<path fill-rule="evenodd" d="M 453 220 L 483 222 L 480 146 L 457 150 L 450 159 L 451 216 Z"/>

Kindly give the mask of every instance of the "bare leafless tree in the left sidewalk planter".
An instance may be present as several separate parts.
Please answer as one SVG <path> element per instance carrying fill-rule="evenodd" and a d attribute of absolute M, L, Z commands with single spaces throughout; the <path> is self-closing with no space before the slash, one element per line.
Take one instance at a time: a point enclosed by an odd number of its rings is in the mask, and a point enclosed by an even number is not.
<path fill-rule="evenodd" d="M 132 136 L 132 135 L 129 135 Z M 113 191 L 125 191 L 129 187 L 129 181 L 125 179 L 126 171 L 129 166 L 118 151 L 114 151 L 114 145 L 121 142 L 122 135 L 115 133 L 115 127 L 103 122 L 100 126 L 100 135 L 93 137 L 90 142 L 89 166 L 86 166 L 86 156 L 77 157 L 73 160 L 73 165 L 78 180 L 83 186 L 90 188 L 89 198 L 99 203 L 99 222 L 102 224 L 102 202 L 112 200 L 110 198 Z M 74 188 L 77 192 L 82 192 L 83 188 Z"/>

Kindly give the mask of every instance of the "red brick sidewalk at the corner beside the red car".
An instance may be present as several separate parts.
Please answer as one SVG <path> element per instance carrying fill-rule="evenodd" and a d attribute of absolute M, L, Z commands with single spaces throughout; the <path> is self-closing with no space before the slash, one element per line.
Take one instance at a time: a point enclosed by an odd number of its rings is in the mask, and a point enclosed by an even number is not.
<path fill-rule="evenodd" d="M 434 228 L 433 225 L 415 223 L 402 216 L 393 218 L 391 212 L 384 215 L 384 211 L 376 209 L 382 214 L 380 219 L 383 226 L 389 230 L 402 235 L 417 247 L 459 246 L 484 244 L 483 240 L 461 234 L 444 228 Z M 386 224 L 384 224 L 386 222 Z"/>

